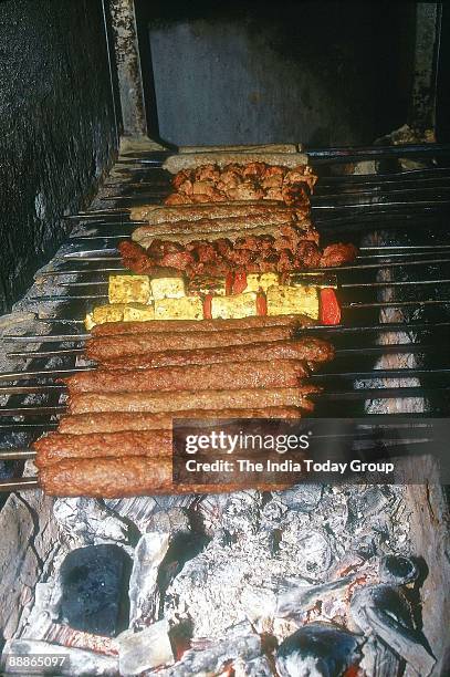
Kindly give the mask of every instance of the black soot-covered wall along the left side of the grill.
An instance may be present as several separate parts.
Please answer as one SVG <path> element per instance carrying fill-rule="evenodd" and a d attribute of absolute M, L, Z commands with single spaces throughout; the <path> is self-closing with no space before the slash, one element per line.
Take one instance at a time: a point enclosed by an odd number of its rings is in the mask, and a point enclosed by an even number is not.
<path fill-rule="evenodd" d="M 0 313 L 116 149 L 101 0 L 0 3 Z"/>

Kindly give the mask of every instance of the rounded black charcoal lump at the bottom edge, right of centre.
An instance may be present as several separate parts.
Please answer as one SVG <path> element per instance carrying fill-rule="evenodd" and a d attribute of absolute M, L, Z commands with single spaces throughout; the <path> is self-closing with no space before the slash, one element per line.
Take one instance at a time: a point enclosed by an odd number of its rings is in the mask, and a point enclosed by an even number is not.
<path fill-rule="evenodd" d="M 342 677 L 356 666 L 360 639 L 332 624 L 310 623 L 286 637 L 276 652 L 280 677 Z"/>

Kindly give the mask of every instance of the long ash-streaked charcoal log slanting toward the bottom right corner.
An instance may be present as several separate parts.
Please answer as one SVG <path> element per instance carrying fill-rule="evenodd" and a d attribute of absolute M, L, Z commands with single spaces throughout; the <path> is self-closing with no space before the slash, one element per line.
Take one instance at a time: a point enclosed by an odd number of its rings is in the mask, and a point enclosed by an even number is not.
<path fill-rule="evenodd" d="M 431 674 L 436 659 L 415 627 L 414 610 L 400 589 L 384 584 L 360 587 L 352 597 L 350 610 L 364 633 L 384 642 L 420 677 Z"/>

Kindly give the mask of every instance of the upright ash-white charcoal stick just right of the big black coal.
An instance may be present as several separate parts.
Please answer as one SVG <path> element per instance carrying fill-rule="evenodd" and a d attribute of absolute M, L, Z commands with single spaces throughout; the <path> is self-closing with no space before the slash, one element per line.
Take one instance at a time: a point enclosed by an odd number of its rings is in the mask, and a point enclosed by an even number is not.
<path fill-rule="evenodd" d="M 156 621 L 160 591 L 159 565 L 170 544 L 169 533 L 145 533 L 136 545 L 129 579 L 129 627 L 137 628 Z"/>

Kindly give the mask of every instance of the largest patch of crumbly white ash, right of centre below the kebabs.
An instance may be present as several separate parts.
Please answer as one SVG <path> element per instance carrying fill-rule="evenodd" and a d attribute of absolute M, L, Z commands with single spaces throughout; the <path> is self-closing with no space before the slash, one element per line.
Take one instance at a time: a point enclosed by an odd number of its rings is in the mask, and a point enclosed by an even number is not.
<path fill-rule="evenodd" d="M 214 535 L 169 585 L 165 616 L 172 623 L 189 619 L 196 637 L 220 637 L 230 625 L 247 618 L 266 631 L 282 580 L 295 579 L 304 585 L 328 581 L 333 566 L 347 553 L 359 546 L 367 551 L 368 535 L 374 571 L 384 552 L 406 554 L 406 515 L 400 524 L 387 510 L 397 509 L 402 501 L 401 487 L 380 489 L 383 500 L 371 497 L 371 508 L 364 514 L 370 490 L 324 487 L 318 506 L 310 512 L 290 504 L 302 488 L 286 492 L 285 502 L 283 492 L 265 503 L 258 492 L 239 492 L 228 501 L 209 497 L 207 514 L 214 515 Z M 294 506 L 299 504 L 297 500 Z M 355 510 L 357 519 L 353 519 Z M 355 562 L 356 569 L 365 566 L 364 558 Z"/>

